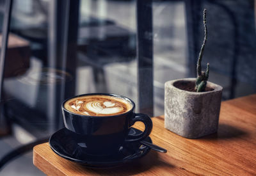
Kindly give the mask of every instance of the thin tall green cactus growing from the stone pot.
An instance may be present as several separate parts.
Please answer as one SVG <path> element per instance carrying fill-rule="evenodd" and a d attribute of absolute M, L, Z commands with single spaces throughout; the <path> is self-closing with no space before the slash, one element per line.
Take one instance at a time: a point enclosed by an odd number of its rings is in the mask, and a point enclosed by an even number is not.
<path fill-rule="evenodd" d="M 202 54 L 204 52 L 206 41 L 207 41 L 206 9 L 204 9 L 204 42 L 199 52 L 199 57 L 196 65 L 196 70 L 197 70 L 197 77 L 196 77 L 196 83 L 195 83 L 196 92 L 204 92 L 206 88 L 207 80 L 209 77 L 209 70 L 210 70 L 209 63 L 207 63 L 206 72 L 202 72 L 202 67 L 201 67 Z"/>

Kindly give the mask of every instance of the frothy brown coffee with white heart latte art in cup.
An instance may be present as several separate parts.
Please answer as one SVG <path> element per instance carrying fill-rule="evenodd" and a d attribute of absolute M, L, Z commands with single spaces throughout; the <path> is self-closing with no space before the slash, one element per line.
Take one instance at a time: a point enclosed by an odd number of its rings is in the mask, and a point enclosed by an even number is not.
<path fill-rule="evenodd" d="M 68 100 L 64 108 L 79 115 L 112 116 L 126 113 L 132 109 L 132 104 L 109 95 L 85 95 Z"/>

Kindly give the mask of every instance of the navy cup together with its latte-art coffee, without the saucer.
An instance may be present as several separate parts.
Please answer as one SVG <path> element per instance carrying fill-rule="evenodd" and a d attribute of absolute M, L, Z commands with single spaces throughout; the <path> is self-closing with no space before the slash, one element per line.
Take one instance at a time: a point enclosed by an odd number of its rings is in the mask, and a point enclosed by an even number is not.
<path fill-rule="evenodd" d="M 65 127 L 78 135 L 86 153 L 106 155 L 118 152 L 125 143 L 140 142 L 152 131 L 148 115 L 134 113 L 134 102 L 112 93 L 88 93 L 65 100 L 61 106 Z M 143 122 L 141 134 L 129 134 L 135 122 Z"/>

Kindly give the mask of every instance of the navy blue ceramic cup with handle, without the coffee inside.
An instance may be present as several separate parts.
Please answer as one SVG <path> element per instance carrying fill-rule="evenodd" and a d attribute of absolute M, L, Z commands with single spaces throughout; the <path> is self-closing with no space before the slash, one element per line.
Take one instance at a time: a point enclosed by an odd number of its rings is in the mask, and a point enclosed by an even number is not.
<path fill-rule="evenodd" d="M 132 108 L 118 115 L 89 116 L 72 113 L 65 109 L 67 100 L 86 95 L 108 95 L 124 99 L 132 105 Z M 93 155 L 104 155 L 118 152 L 124 143 L 140 142 L 148 137 L 152 131 L 152 120 L 148 115 L 134 113 L 134 102 L 122 95 L 111 93 L 88 93 L 70 97 L 63 102 L 61 108 L 65 127 L 72 131 L 77 143 L 84 151 Z M 129 128 L 137 121 L 145 124 L 145 130 L 141 134 L 131 134 Z"/>

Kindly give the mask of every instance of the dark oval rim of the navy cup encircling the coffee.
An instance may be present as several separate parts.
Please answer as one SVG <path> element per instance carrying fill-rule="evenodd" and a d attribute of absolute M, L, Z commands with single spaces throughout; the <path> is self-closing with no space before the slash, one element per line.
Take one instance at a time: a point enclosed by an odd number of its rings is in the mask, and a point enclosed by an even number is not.
<path fill-rule="evenodd" d="M 109 115 L 109 116 L 91 116 L 91 115 L 80 115 L 80 114 L 77 114 L 77 113 L 73 113 L 71 111 L 68 111 L 68 109 L 64 108 L 64 104 L 70 100 L 70 99 L 74 99 L 76 97 L 83 97 L 83 96 L 90 96 L 90 95 L 108 95 L 108 96 L 112 96 L 112 97 L 121 97 L 123 99 L 128 99 L 131 104 L 132 104 L 132 108 L 125 112 L 125 113 L 122 113 L 122 114 L 118 114 L 118 115 Z M 73 97 L 69 97 L 68 99 L 65 99 L 62 104 L 61 104 L 61 108 L 63 109 L 63 111 L 67 111 L 68 113 L 71 113 L 73 115 L 77 115 L 77 116 L 83 116 L 83 117 L 89 117 L 89 118 L 107 118 L 107 117 L 115 117 L 115 116 L 120 116 L 120 115 L 126 115 L 128 113 L 131 113 L 131 111 L 134 110 L 135 108 L 135 103 L 133 102 L 133 100 L 129 99 L 128 97 L 125 97 L 124 95 L 118 95 L 116 93 L 84 93 L 84 94 L 80 94 L 80 95 L 75 95 Z"/>

